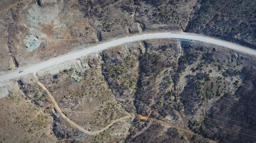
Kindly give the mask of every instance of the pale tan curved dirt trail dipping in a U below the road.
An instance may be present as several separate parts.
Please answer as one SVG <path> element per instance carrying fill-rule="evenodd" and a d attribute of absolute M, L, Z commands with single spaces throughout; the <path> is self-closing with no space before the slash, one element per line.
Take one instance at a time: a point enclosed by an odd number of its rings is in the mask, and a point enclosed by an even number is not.
<path fill-rule="evenodd" d="M 49 95 L 49 97 L 51 98 L 53 105 L 55 106 L 55 109 L 57 110 L 57 112 L 59 113 L 59 115 L 66 120 L 72 127 L 76 128 L 77 130 L 83 132 L 84 134 L 88 134 L 88 135 L 97 135 L 101 132 L 103 132 L 104 130 L 108 129 L 110 126 L 112 126 L 114 123 L 116 122 L 120 122 L 126 119 L 131 118 L 131 115 L 129 116 L 125 116 L 122 118 L 119 118 L 117 120 L 114 120 L 112 123 L 110 123 L 109 125 L 105 126 L 104 128 L 98 130 L 98 131 L 88 131 L 86 129 L 83 129 L 80 125 L 76 124 L 75 122 L 71 121 L 66 115 L 64 115 L 64 113 L 62 112 L 61 108 L 59 107 L 58 103 L 55 101 L 54 97 L 52 96 L 52 94 L 48 91 L 48 89 L 45 87 L 44 84 L 42 84 L 40 81 L 37 81 L 37 84 L 47 92 L 47 94 Z"/>

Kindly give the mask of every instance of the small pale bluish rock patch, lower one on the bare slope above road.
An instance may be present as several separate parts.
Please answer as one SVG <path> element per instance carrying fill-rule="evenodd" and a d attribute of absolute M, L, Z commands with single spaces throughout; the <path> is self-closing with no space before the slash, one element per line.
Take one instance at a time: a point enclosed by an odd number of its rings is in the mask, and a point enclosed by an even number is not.
<path fill-rule="evenodd" d="M 32 51 L 40 46 L 38 38 L 34 35 L 28 35 L 26 39 L 26 48 L 28 51 Z"/>

